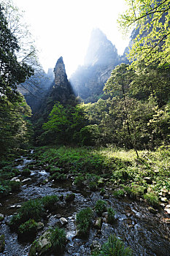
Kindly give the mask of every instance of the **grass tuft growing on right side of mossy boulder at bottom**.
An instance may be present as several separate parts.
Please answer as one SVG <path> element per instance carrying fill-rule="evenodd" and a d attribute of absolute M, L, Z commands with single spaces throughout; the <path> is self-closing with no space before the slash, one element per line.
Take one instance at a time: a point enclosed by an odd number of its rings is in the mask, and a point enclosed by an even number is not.
<path fill-rule="evenodd" d="M 52 244 L 52 250 L 55 252 L 63 251 L 66 244 L 66 232 L 65 230 L 55 227 L 55 230 L 50 230 L 50 241 Z"/>

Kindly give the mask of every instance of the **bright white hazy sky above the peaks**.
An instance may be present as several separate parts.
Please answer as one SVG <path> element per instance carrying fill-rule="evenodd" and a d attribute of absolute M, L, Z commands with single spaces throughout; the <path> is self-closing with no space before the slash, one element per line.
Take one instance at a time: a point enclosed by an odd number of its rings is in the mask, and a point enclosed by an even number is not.
<path fill-rule="evenodd" d="M 13 0 L 31 26 L 45 72 L 60 56 L 68 77 L 83 64 L 90 33 L 99 28 L 122 54 L 128 46 L 117 29 L 124 0 Z"/>

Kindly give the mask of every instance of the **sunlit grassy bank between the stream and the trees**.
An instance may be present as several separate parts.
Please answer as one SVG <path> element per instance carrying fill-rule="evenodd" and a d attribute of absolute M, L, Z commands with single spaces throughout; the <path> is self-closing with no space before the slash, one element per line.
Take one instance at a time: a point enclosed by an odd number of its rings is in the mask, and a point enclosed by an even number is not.
<path fill-rule="evenodd" d="M 139 151 L 139 159 L 133 150 L 112 146 L 41 147 L 36 149 L 35 157 L 39 159 L 38 165 L 45 165 L 53 177 L 74 174 L 74 182 L 80 187 L 88 184 L 95 190 L 109 186 L 115 197 L 142 197 L 152 206 L 158 206 L 158 197 L 169 197 L 169 147 Z"/>

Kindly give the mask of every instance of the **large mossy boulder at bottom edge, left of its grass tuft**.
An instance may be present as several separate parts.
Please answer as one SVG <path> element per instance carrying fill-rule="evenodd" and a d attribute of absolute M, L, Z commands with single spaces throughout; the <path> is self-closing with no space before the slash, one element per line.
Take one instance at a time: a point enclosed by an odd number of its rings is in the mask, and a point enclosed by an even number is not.
<path fill-rule="evenodd" d="M 42 236 L 35 240 L 33 244 L 31 244 L 28 256 L 46 255 L 47 252 L 49 252 L 51 246 L 50 230 L 47 230 Z"/>

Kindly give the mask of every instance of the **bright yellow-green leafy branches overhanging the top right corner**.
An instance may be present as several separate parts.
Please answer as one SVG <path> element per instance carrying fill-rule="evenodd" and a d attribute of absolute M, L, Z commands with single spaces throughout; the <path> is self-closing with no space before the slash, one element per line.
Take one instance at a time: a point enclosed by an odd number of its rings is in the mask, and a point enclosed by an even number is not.
<path fill-rule="evenodd" d="M 120 15 L 120 29 L 134 32 L 128 58 L 136 63 L 170 64 L 170 0 L 125 0 L 128 10 Z"/>

